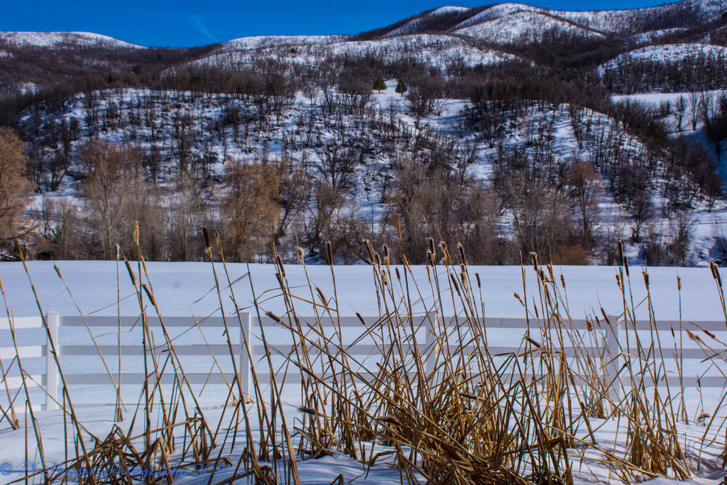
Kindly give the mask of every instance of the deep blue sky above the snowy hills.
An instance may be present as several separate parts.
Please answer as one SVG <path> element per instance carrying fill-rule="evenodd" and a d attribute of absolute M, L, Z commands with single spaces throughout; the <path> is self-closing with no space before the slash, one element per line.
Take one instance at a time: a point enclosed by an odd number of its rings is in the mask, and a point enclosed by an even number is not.
<path fill-rule="evenodd" d="M 494 3 L 455 2 L 465 7 Z M 534 0 L 553 9 L 648 7 L 664 0 Z M 242 36 L 358 33 L 447 0 L 0 0 L 0 30 L 90 31 L 147 46 L 189 47 Z"/>

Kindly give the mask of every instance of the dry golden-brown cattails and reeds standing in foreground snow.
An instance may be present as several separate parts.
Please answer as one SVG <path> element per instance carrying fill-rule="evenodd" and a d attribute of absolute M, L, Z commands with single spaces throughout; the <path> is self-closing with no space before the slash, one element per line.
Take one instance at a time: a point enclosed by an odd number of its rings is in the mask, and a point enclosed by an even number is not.
<path fill-rule="evenodd" d="M 225 316 L 230 362 L 238 375 L 239 355 L 229 335 L 242 325 L 240 310 L 234 292 L 231 304 L 222 297 L 222 290 L 231 289 L 232 281 L 219 237 L 205 231 L 205 242 L 207 256 L 217 261 L 211 263 L 211 270 Z M 619 321 L 635 330 L 635 304 L 625 260 L 616 275 L 622 292 L 621 315 L 608 316 L 601 309 L 601 315 L 587 316 L 584 332 L 569 315 L 566 281 L 531 254 L 537 292 L 530 293 L 531 301 L 524 299 L 524 291 L 523 297 L 514 295 L 523 305 L 529 328 L 520 348 L 492 355 L 480 276 L 470 273 L 462 246 L 453 257 L 446 244 L 435 246 L 430 240 L 428 278 L 419 281 L 406 258 L 394 265 L 386 247 L 379 254 L 367 241 L 365 244 L 372 262 L 371 291 L 378 297 L 379 319 L 371 324 L 359 316 L 361 331 L 353 340 L 373 341 L 375 350 L 368 356 L 353 353 L 351 336 L 340 324 L 337 290 L 326 295 L 308 278 L 310 295 L 294 295 L 278 257 L 275 268 L 286 312 L 264 313 L 256 297 L 265 357 L 259 361 L 249 351 L 243 356 L 252 374 L 252 395 L 246 395 L 236 377 L 229 383 L 222 413 L 213 421 L 198 403 L 164 326 L 142 254 L 135 255 L 134 263 L 122 255 L 139 302 L 148 379 L 123 421 L 123 402 L 117 393 L 119 422 L 108 436 L 89 432 L 74 412 L 71 396 L 63 394 L 60 404 L 68 429 L 65 465 L 78 470 L 82 483 L 137 483 L 140 477 L 129 474 L 136 467 L 193 470 L 204 464 L 232 466 L 224 477 L 210 476 L 210 484 L 239 480 L 298 485 L 299 460 L 337 451 L 361 462 L 364 473 L 381 460 L 393 460 L 402 483 L 423 478 L 432 484 L 571 484 L 574 467 L 594 464 L 610 468 L 627 483 L 645 477 L 691 476 L 694 459 L 688 459 L 678 431 L 678 421 L 686 419 L 683 387 L 667 386 L 664 391 L 652 385 L 664 377 L 667 366 L 667 349 L 662 348 L 654 326 L 648 341 L 640 340 L 636 332 L 627 333 L 632 340 L 619 356 L 598 350 L 602 348 L 599 332 Z M 328 256 L 332 261 L 330 246 Z M 305 275 L 308 277 L 307 270 Z M 716 268 L 712 275 L 724 305 Z M 333 265 L 331 276 L 336 288 Z M 523 267 L 523 288 L 525 277 Z M 258 289 L 248 279 L 255 296 Z M 648 290 L 646 272 L 643 281 Z M 413 308 L 423 301 L 430 302 L 430 308 L 422 323 L 422 316 L 415 315 Z M 650 295 L 647 304 L 653 322 Z M 38 305 L 43 315 L 40 302 Z M 446 321 L 444 308 L 449 306 L 456 309 L 457 322 Z M 161 342 L 155 340 L 160 334 L 148 326 L 148 311 L 161 321 Z M 9 312 L 8 316 L 12 319 Z M 333 331 L 324 326 L 328 320 L 334 322 Z M 283 353 L 285 372 L 279 372 L 274 362 L 281 353 L 268 342 L 265 321 L 287 329 L 292 337 L 294 351 Z M 436 332 L 422 341 L 422 329 L 430 327 Z M 712 350 L 721 344 L 716 337 L 709 345 L 700 341 Z M 250 342 L 244 344 L 243 348 L 249 348 Z M 148 351 L 158 346 L 167 350 L 161 354 L 163 358 Z M 638 351 L 632 353 L 632 348 Z M 713 359 L 715 366 L 723 368 L 722 357 Z M 14 364 L 20 365 L 20 360 Z M 680 362 L 677 367 L 683 368 Z M 261 372 L 270 374 L 269 385 L 258 377 Z M 60 364 L 59 373 L 63 380 Z M 163 374 L 175 377 L 171 388 L 161 386 Z M 281 396 L 293 374 L 302 383 L 300 416 L 292 419 L 284 412 Z M 31 409 L 27 390 L 25 396 Z M 16 419 L 10 414 L 7 417 Z M 32 411 L 30 417 L 42 454 L 42 436 Z M 598 423 L 604 419 L 627 430 L 625 447 L 619 449 L 595 438 Z M 137 422 L 142 426 L 140 433 L 134 431 Z M 159 422 L 161 425 L 156 424 Z M 721 425 L 712 417 L 704 436 L 712 426 Z M 87 446 L 89 443 L 93 445 Z M 236 459 L 230 460 L 230 456 Z M 231 475 L 229 470 L 234 470 Z M 35 478 L 41 475 L 45 480 L 63 479 L 52 476 L 52 470 L 42 470 Z M 143 478 L 148 483 L 159 480 L 171 482 L 172 477 Z"/>

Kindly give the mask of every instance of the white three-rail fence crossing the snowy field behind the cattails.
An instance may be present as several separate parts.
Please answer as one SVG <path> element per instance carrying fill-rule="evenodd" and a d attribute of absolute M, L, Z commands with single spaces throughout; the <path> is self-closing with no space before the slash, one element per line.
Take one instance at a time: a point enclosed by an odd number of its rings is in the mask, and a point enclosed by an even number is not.
<path fill-rule="evenodd" d="M 313 318 L 309 319 L 310 321 L 313 321 Z M 601 339 L 597 340 L 600 341 L 599 347 L 580 349 L 565 348 L 566 356 L 569 357 L 582 355 L 582 351 L 592 352 L 591 355 L 593 355 L 593 352 L 595 352 L 595 355 L 602 356 L 601 360 L 603 363 L 603 369 L 606 377 L 608 377 L 609 375 L 616 376 L 616 373 L 618 372 L 618 369 L 620 367 L 620 362 L 623 358 L 623 353 L 635 352 L 635 349 L 633 348 L 627 350 L 625 346 L 627 339 L 624 338 L 627 332 L 632 333 L 634 331 L 633 327 L 629 325 L 629 328 L 626 329 L 623 321 L 619 321 L 619 323 L 616 323 L 618 321 L 616 317 L 611 317 L 610 319 L 612 323 L 611 327 L 606 326 L 604 328 L 602 326 L 601 328 L 595 329 L 597 332 L 601 332 L 603 335 Z M 301 320 L 302 323 L 305 324 L 306 318 L 301 318 Z M 376 316 L 364 318 L 364 320 L 366 321 L 367 325 L 373 325 L 377 321 L 380 321 L 381 318 L 379 316 Z M 449 328 L 454 328 L 454 326 L 456 326 L 459 322 L 464 322 L 464 318 L 452 317 L 445 318 L 445 320 L 446 326 Z M 48 324 L 49 334 L 51 335 L 52 339 L 56 344 L 56 349 L 59 356 L 98 356 L 99 351 L 103 353 L 103 356 L 105 357 L 119 356 L 119 353 L 126 356 L 142 355 L 142 345 L 121 345 L 120 348 L 117 345 L 98 345 L 97 349 L 96 346 L 92 344 L 92 342 L 85 339 L 82 343 L 63 343 L 59 345 L 60 342 L 63 342 L 63 339 L 59 340 L 59 334 L 60 337 L 63 337 L 64 329 L 71 329 L 73 327 L 85 327 L 88 324 L 89 327 L 96 332 L 100 332 L 103 328 L 111 332 L 116 332 L 116 329 L 120 324 L 121 329 L 128 331 L 132 326 L 140 325 L 140 318 L 138 316 L 124 316 L 121 317 L 120 322 L 119 318 L 117 318 L 116 316 L 86 316 L 84 321 L 84 318 L 81 318 L 80 316 L 59 316 L 57 312 L 51 311 L 47 313 L 46 321 Z M 428 353 L 432 346 L 435 344 L 435 333 L 437 332 L 437 329 L 439 331 L 441 331 L 442 329 L 441 324 L 437 324 L 436 321 L 437 319 L 433 316 L 419 316 L 415 318 L 414 327 L 418 328 L 419 326 L 422 326 L 422 328 L 425 329 L 427 332 L 425 342 L 419 344 L 419 350 L 422 355 Z M 39 317 L 15 318 L 13 322 L 13 327 L 16 334 L 28 331 L 29 329 L 35 329 L 37 334 L 37 332 L 39 332 L 39 329 L 43 328 L 42 320 Z M 264 355 L 264 346 L 260 345 L 260 343 L 252 342 L 253 336 L 251 329 L 254 329 L 254 326 L 258 325 L 257 318 L 252 317 L 250 313 L 241 313 L 239 320 L 237 316 L 230 316 L 226 318 L 226 323 L 230 333 L 239 332 L 240 334 L 240 343 L 236 344 L 236 347 L 233 350 L 236 354 L 236 360 L 238 360 L 238 372 L 240 372 L 241 374 L 241 385 L 243 386 L 244 390 L 249 391 L 249 359 L 247 358 L 247 353 L 242 351 L 242 345 L 243 342 L 248 342 L 249 349 L 253 357 Z M 340 317 L 340 320 L 337 320 L 335 322 L 331 321 L 330 319 L 328 319 L 327 321 L 324 319 L 322 323 L 324 324 L 324 328 L 328 326 L 333 328 L 334 326 L 337 327 L 340 325 L 342 327 L 355 327 L 358 329 L 363 329 L 361 321 L 357 317 L 353 316 L 342 316 Z M 160 326 L 158 318 L 148 318 L 148 324 L 152 328 Z M 272 319 L 265 316 L 262 317 L 262 324 L 264 327 L 273 327 L 277 325 Z M 529 327 L 531 328 L 531 332 L 534 332 L 536 330 L 532 328 L 534 325 L 536 325 L 533 321 L 528 323 L 523 318 L 486 318 L 483 324 L 489 334 L 491 334 L 492 330 L 494 329 L 513 329 L 516 331 L 521 330 L 523 334 L 525 329 Z M 605 322 L 602 321 L 601 324 L 605 325 Z M 190 328 L 194 326 L 194 320 L 190 317 L 166 317 L 164 318 L 164 325 L 169 329 L 179 329 L 180 327 Z M 223 319 L 222 317 L 204 318 L 204 320 L 199 322 L 199 325 L 204 328 L 217 327 L 223 329 L 225 327 L 225 319 Z M 9 333 L 7 332 L 9 331 L 9 328 L 10 326 L 7 318 L 0 318 L 0 331 L 6 331 L 6 333 Z M 587 323 L 583 320 L 573 321 L 570 325 L 570 328 L 574 330 L 586 330 Z M 651 327 L 651 323 L 649 321 L 637 321 L 635 329 L 637 331 L 654 330 Z M 678 321 L 658 321 L 655 330 L 659 332 L 667 332 L 666 334 L 662 334 L 662 348 L 664 349 L 665 353 L 670 353 L 669 355 L 664 355 L 665 360 L 673 358 L 672 354 L 674 353 L 679 353 L 680 358 L 683 359 L 704 359 L 708 356 L 708 354 L 705 353 L 702 348 L 696 348 L 692 346 L 682 349 L 679 348 L 678 345 L 677 348 L 674 348 L 674 340 L 679 341 L 681 338 L 683 338 L 684 341 L 688 341 L 688 337 L 686 336 L 686 334 L 681 334 L 681 332 L 686 332 L 686 330 L 691 330 L 691 332 L 695 333 L 701 333 L 702 330 L 707 330 L 708 332 L 725 332 L 727 331 L 727 326 L 724 321 L 683 321 L 681 323 Z M 46 393 L 46 408 L 56 409 L 56 403 L 59 400 L 60 396 L 57 366 L 55 364 L 55 359 L 50 352 L 50 346 L 47 345 L 47 342 L 45 341 L 46 337 L 43 337 L 42 340 L 44 340 L 44 343 L 42 345 L 19 346 L 16 353 L 15 348 L 12 346 L 12 340 L 4 338 L 3 340 L 1 340 L 0 343 L 0 358 L 2 358 L 6 372 L 9 365 L 13 363 L 13 359 L 16 356 L 20 357 L 21 360 L 27 358 L 45 358 L 44 374 L 31 374 L 31 377 L 32 380 L 39 382 L 44 388 L 44 393 Z M 270 347 L 275 348 L 276 352 L 279 352 L 283 355 L 289 355 L 294 351 L 292 345 L 276 345 L 276 342 L 269 343 Z M 515 342 L 513 343 L 515 345 L 490 345 L 488 347 L 489 353 L 491 355 L 497 355 L 503 353 L 517 352 L 518 348 L 521 347 L 521 340 L 515 339 Z M 357 343 L 356 345 L 352 345 L 350 348 L 348 348 L 348 351 L 356 355 L 366 355 L 374 351 L 375 348 L 375 345 Z M 209 356 L 210 353 L 219 354 L 221 356 L 229 356 L 229 348 L 228 344 L 226 343 L 209 345 L 177 345 L 175 343 L 174 349 L 180 356 Z M 165 352 L 166 345 L 157 345 L 155 351 L 156 353 Z M 185 372 L 185 374 L 190 384 L 222 384 L 225 382 L 232 382 L 234 377 L 234 374 L 231 372 L 220 372 L 216 374 L 210 374 L 209 372 Z M 365 374 L 366 373 L 362 375 Z M 145 374 L 143 373 L 123 372 L 121 376 L 122 385 L 140 385 L 145 382 Z M 108 372 L 64 372 L 64 377 L 67 385 L 111 385 L 112 383 L 111 377 Z M 266 382 L 266 380 L 269 380 L 270 375 L 257 372 L 257 377 L 259 377 L 262 382 Z M 9 377 L 6 375 L 3 376 L 3 379 L 7 380 L 8 386 L 11 389 L 18 389 L 23 385 L 23 381 L 21 380 L 20 376 Z M 173 374 L 162 374 L 161 382 L 172 382 L 173 379 Z M 298 379 L 300 379 L 300 377 L 298 377 Z M 703 388 L 723 388 L 727 385 L 727 378 L 724 377 L 724 375 L 714 374 L 702 377 L 685 375 L 683 377 L 683 380 L 679 380 L 678 375 L 671 375 L 669 377 L 666 377 L 665 380 L 669 385 L 683 385 L 686 388 L 695 387 L 696 385 L 700 385 Z M 29 381 L 30 380 L 26 378 L 26 382 L 28 382 L 28 385 L 31 385 L 31 382 Z M 286 380 L 286 382 L 293 381 L 295 381 L 295 378 L 289 378 Z M 662 383 L 663 382 L 660 382 L 660 384 Z M 0 391 L 4 392 L 4 388 L 5 383 L 3 382 L 0 386 Z"/>

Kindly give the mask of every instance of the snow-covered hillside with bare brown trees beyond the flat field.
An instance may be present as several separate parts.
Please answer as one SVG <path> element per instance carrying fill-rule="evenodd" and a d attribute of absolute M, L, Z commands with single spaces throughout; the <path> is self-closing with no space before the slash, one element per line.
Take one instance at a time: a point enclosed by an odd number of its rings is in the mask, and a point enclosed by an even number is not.
<path fill-rule="evenodd" d="M 1 257 L 131 256 L 138 224 L 150 260 L 199 260 L 208 227 L 230 261 L 425 262 L 431 237 L 475 264 L 617 264 L 619 240 L 727 262 L 725 11 L 443 7 L 193 49 L 0 33 Z"/>

